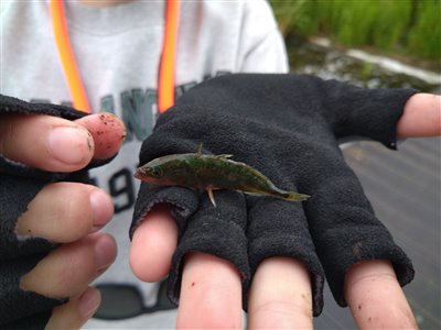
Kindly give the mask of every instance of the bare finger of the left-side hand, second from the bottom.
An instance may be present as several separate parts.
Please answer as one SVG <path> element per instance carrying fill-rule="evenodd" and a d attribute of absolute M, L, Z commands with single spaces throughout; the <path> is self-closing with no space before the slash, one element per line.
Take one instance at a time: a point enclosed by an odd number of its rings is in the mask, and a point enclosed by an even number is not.
<path fill-rule="evenodd" d="M 105 233 L 61 245 L 22 277 L 20 287 L 54 298 L 78 295 L 115 261 L 116 251 L 114 238 Z"/>

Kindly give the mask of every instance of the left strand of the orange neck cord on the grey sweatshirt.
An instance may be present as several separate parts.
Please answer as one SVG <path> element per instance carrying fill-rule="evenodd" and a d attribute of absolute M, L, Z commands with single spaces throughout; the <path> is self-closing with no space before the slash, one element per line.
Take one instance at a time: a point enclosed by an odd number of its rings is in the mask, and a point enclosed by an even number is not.
<path fill-rule="evenodd" d="M 71 97 L 74 102 L 74 108 L 90 113 L 92 109 L 79 75 L 78 66 L 75 61 L 75 55 L 71 45 L 71 38 L 67 33 L 67 24 L 64 13 L 63 1 L 51 0 L 50 9 L 55 42 L 65 73 L 65 78 L 71 90 Z"/>

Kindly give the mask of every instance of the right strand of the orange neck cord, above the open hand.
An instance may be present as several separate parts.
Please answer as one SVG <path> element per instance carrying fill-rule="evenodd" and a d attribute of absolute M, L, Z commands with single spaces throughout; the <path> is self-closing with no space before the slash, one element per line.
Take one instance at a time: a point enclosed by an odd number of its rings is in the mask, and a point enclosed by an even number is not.
<path fill-rule="evenodd" d="M 165 2 L 165 31 L 158 79 L 158 110 L 166 111 L 174 103 L 174 74 L 180 1 Z"/>

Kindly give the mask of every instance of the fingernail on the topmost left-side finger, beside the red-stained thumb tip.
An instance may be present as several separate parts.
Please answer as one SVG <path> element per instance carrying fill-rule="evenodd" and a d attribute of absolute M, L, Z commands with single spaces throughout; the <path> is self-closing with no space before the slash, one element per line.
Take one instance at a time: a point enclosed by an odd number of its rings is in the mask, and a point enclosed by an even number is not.
<path fill-rule="evenodd" d="M 51 131 L 47 138 L 50 154 L 62 163 L 83 164 L 89 161 L 94 152 L 92 135 L 75 127 L 60 127 Z"/>

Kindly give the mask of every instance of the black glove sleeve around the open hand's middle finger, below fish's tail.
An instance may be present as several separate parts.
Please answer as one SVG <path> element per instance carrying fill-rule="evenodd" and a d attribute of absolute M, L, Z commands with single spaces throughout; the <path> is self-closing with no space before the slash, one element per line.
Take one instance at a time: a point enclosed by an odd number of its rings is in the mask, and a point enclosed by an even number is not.
<path fill-rule="evenodd" d="M 313 315 L 323 308 L 324 274 L 300 202 L 276 198 L 248 198 L 248 251 L 251 274 L 271 256 L 302 262 L 311 273 Z"/>

